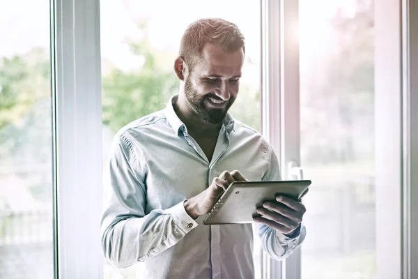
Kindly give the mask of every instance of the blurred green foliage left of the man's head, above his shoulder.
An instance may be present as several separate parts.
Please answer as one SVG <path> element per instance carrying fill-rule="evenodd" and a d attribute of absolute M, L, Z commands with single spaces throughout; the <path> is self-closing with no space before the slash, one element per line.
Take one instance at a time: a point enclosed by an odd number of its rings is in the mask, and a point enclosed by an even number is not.
<path fill-rule="evenodd" d="M 113 132 L 141 116 L 162 110 L 178 88 L 176 75 L 164 68 L 158 60 L 159 53 L 150 47 L 147 22 L 140 20 L 137 25 L 143 36 L 139 42 L 131 41 L 130 48 L 143 59 L 143 65 L 130 71 L 110 65 L 110 73 L 102 77 L 103 123 Z"/>

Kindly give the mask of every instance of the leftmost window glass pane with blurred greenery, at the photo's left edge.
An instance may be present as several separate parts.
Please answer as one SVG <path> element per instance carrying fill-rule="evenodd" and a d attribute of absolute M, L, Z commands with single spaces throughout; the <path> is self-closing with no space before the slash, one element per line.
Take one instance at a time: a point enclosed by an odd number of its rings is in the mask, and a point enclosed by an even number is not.
<path fill-rule="evenodd" d="M 49 1 L 0 1 L 0 277 L 54 277 Z"/>

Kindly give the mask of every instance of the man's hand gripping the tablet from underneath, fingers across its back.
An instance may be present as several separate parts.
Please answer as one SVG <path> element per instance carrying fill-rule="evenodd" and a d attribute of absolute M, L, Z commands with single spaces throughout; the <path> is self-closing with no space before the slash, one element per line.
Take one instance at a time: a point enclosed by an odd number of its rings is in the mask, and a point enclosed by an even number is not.
<path fill-rule="evenodd" d="M 302 223 L 306 211 L 302 202 L 279 195 L 276 201 L 264 202 L 263 207 L 257 209 L 260 216 L 253 220 L 277 229 L 282 234 L 293 235 Z"/>

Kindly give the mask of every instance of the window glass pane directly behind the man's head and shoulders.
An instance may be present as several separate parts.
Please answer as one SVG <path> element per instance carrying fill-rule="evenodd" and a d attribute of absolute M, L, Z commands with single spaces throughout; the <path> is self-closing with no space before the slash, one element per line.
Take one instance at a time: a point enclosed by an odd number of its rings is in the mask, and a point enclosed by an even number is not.
<path fill-rule="evenodd" d="M 215 0 L 208 5 L 191 0 L 105 0 L 100 2 L 100 10 L 104 163 L 119 128 L 162 110 L 178 93 L 173 63 L 180 38 L 187 25 L 201 17 L 229 20 L 244 34 L 246 57 L 240 93 L 230 112 L 235 119 L 261 129 L 260 1 Z M 260 276 L 261 250 L 257 237 L 254 241 L 256 276 Z M 135 271 L 136 266 L 104 266 L 105 278 L 134 278 Z"/>

